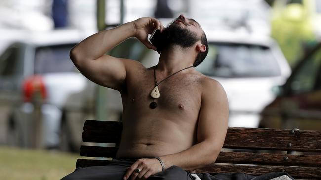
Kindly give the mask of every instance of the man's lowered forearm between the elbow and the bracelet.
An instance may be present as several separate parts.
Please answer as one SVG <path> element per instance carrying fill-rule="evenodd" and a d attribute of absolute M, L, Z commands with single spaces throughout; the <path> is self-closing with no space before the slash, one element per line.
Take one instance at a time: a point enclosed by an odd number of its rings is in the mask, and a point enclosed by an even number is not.
<path fill-rule="evenodd" d="M 217 148 L 215 143 L 202 141 L 187 150 L 176 154 L 161 156 L 160 158 L 165 164 L 165 169 L 175 165 L 184 170 L 192 171 L 214 162 L 220 150 L 221 147 Z"/>

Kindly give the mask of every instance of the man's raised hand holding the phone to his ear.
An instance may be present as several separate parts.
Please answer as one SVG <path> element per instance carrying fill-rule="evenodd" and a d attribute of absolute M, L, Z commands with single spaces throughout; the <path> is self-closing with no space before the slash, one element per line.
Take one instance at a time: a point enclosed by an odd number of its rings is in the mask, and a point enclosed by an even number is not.
<path fill-rule="evenodd" d="M 135 37 L 147 48 L 156 51 L 156 47 L 148 41 L 148 34 L 152 34 L 155 28 L 162 32 L 164 30 L 164 26 L 161 22 L 155 18 L 145 17 L 133 21 L 133 25 L 136 30 Z"/>

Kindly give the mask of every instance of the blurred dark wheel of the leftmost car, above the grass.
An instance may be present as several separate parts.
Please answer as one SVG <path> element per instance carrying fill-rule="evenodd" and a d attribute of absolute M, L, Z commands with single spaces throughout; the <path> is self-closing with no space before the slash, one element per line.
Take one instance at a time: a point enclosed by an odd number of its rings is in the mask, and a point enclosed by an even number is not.
<path fill-rule="evenodd" d="M 7 121 L 6 141 L 8 146 L 23 147 L 23 135 L 13 115 Z"/>

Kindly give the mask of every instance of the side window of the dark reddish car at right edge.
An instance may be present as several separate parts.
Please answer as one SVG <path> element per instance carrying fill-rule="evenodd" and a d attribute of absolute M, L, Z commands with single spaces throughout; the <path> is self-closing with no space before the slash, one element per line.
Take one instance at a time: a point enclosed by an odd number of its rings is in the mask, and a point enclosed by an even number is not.
<path fill-rule="evenodd" d="M 301 64 L 289 82 L 290 93 L 300 94 L 314 90 L 321 65 L 321 48 L 315 51 Z"/>

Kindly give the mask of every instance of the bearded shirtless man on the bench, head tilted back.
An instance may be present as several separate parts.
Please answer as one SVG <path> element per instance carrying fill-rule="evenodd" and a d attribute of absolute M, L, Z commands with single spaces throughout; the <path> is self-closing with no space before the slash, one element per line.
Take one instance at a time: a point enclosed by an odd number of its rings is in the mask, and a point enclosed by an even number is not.
<path fill-rule="evenodd" d="M 147 39 L 155 28 L 168 34 L 157 66 L 105 55 L 129 37 L 156 50 Z M 207 49 L 201 26 L 184 15 L 166 29 L 157 19 L 140 18 L 76 45 L 70 54 L 80 72 L 120 92 L 123 131 L 111 165 L 80 168 L 63 180 L 191 180 L 190 171 L 213 163 L 224 143 L 229 108 L 222 86 L 190 67 L 205 58 Z M 155 77 L 157 83 L 165 79 L 158 85 L 159 98 L 151 97 Z M 157 106 L 150 107 L 152 102 Z"/>

